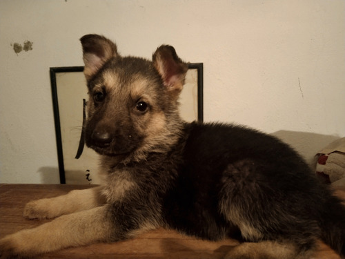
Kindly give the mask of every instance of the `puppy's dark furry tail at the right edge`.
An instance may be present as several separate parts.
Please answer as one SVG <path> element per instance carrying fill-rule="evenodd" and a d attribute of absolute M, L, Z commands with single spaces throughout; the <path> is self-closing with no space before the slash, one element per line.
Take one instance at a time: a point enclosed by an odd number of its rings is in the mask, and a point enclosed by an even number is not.
<path fill-rule="evenodd" d="M 345 205 L 331 196 L 322 211 L 322 240 L 345 258 Z"/>

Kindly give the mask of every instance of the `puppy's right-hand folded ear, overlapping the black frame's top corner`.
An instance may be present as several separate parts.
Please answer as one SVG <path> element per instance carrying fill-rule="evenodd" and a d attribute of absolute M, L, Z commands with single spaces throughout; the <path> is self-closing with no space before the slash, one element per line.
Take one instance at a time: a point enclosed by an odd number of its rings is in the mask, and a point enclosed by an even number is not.
<path fill-rule="evenodd" d="M 153 54 L 152 62 L 166 88 L 178 95 L 184 86 L 188 66 L 177 56 L 175 48 L 168 45 L 160 46 Z"/>

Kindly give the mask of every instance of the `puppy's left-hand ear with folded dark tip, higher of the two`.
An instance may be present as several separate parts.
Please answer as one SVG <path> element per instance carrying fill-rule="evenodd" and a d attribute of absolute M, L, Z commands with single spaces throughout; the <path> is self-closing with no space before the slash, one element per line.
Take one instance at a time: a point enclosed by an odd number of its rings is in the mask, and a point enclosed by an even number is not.
<path fill-rule="evenodd" d="M 118 56 L 116 45 L 100 35 L 85 35 L 81 37 L 83 46 L 84 75 L 86 80 L 93 75 L 112 57 Z"/>

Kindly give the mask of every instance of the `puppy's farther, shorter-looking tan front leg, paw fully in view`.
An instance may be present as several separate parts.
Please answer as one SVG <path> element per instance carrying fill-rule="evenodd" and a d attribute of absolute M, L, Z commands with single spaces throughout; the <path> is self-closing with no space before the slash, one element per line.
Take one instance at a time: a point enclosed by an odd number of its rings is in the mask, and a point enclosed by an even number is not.
<path fill-rule="evenodd" d="M 70 191 L 56 198 L 28 202 L 23 215 L 30 219 L 56 218 L 60 215 L 92 209 L 104 203 L 105 198 L 101 195 L 101 186 L 98 186 L 92 189 Z"/>

